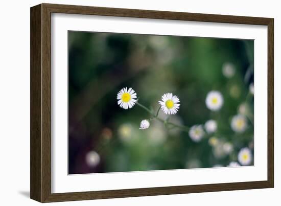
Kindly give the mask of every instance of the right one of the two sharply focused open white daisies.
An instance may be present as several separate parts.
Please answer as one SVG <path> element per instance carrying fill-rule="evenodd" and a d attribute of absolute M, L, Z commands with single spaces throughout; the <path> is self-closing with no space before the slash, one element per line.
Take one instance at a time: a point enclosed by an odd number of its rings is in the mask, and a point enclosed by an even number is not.
<path fill-rule="evenodd" d="M 179 109 L 179 98 L 173 96 L 172 93 L 167 93 L 162 96 L 162 101 L 158 101 L 161 105 L 161 109 L 166 115 L 175 115 Z"/>

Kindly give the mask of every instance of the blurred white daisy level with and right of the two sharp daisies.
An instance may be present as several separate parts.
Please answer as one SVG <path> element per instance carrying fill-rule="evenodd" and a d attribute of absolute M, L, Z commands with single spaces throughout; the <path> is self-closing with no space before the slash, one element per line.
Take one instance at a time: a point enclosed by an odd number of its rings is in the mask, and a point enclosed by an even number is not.
<path fill-rule="evenodd" d="M 219 91 L 209 91 L 205 100 L 208 109 L 217 111 L 223 105 L 223 97 Z"/>

